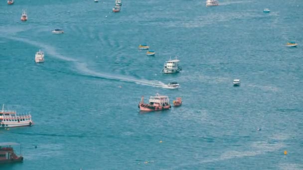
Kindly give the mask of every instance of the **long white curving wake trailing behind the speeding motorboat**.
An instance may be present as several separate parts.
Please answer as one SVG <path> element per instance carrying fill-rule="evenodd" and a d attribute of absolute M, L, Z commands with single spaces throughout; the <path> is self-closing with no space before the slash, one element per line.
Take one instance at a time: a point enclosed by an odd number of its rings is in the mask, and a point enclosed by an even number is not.
<path fill-rule="evenodd" d="M 100 73 L 100 72 L 90 70 L 86 63 L 82 63 L 82 62 L 80 62 L 76 59 L 58 54 L 54 47 L 49 46 L 47 44 L 43 44 L 43 43 L 40 43 L 40 42 L 36 42 L 36 41 L 24 39 L 24 38 L 17 38 L 17 37 L 5 37 L 5 38 L 15 40 L 15 41 L 21 41 L 21 42 L 24 42 L 24 43 L 27 43 L 27 44 L 30 44 L 30 45 L 33 45 L 33 46 L 37 46 L 39 48 L 42 48 L 47 53 L 48 56 L 53 56 L 53 57 L 56 57 L 56 58 L 64 60 L 64 61 L 73 62 L 76 66 L 76 69 L 82 75 L 93 76 L 93 77 L 109 79 L 109 80 L 132 82 L 132 83 L 136 83 L 136 84 L 150 85 L 150 86 L 154 86 L 154 87 L 171 88 L 168 85 L 166 85 L 166 84 L 164 84 L 160 81 L 138 80 L 138 79 L 131 78 L 131 77 L 111 75 L 111 74 Z"/>

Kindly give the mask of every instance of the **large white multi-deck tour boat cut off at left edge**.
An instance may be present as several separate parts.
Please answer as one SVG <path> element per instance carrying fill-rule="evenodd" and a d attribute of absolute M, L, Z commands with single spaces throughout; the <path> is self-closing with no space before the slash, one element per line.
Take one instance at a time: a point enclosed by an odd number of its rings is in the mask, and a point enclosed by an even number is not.
<path fill-rule="evenodd" d="M 27 114 L 16 114 L 15 111 L 4 111 L 4 104 L 2 111 L 0 111 L 0 128 L 8 127 L 19 127 L 19 126 L 31 126 L 33 122 L 31 115 Z"/>

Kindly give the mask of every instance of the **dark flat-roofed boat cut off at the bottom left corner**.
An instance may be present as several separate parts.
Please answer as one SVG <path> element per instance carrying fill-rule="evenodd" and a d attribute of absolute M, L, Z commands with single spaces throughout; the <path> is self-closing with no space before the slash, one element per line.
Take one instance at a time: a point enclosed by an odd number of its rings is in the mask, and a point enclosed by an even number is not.
<path fill-rule="evenodd" d="M 14 148 L 12 146 L 20 146 L 20 156 L 14 152 Z M 14 142 L 2 142 L 0 143 L 0 164 L 5 163 L 17 163 L 22 162 L 23 157 L 21 155 L 21 145 Z"/>

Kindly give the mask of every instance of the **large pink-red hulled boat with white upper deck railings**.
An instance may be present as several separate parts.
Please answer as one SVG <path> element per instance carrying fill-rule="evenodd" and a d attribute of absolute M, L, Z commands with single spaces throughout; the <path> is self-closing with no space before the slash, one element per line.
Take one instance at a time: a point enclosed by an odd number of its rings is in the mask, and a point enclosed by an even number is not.
<path fill-rule="evenodd" d="M 171 105 L 169 104 L 168 96 L 157 93 L 155 96 L 150 97 L 149 104 L 144 103 L 144 96 L 142 96 L 138 107 L 141 111 L 158 111 L 170 109 Z"/>

